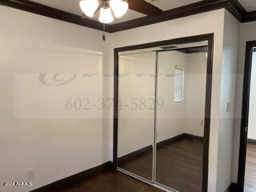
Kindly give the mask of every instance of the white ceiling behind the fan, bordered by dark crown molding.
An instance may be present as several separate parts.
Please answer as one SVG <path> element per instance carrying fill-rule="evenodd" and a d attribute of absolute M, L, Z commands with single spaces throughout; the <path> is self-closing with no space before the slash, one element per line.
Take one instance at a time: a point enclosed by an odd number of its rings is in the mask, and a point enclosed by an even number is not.
<path fill-rule="evenodd" d="M 72 14 L 82 15 L 82 11 L 79 8 L 80 0 L 32 0 L 45 6 L 51 6 L 58 10 L 64 10 Z M 186 6 L 194 2 L 200 2 L 201 0 L 146 0 L 151 2 L 155 6 L 158 6 L 162 10 L 171 10 L 179 6 Z M 256 10 L 256 0 L 238 0 L 247 11 Z M 125 22 L 134 18 L 141 18 L 144 14 L 139 14 L 133 10 L 128 12 L 122 17 L 115 19 L 113 23 Z M 95 15 L 94 20 L 98 20 L 98 15 Z"/>

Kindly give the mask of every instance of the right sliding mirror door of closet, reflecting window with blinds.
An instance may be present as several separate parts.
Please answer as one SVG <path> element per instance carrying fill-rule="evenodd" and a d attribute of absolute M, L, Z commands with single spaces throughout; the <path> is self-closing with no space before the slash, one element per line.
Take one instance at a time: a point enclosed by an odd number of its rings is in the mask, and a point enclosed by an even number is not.
<path fill-rule="evenodd" d="M 155 182 L 202 191 L 207 43 L 158 51 Z"/>

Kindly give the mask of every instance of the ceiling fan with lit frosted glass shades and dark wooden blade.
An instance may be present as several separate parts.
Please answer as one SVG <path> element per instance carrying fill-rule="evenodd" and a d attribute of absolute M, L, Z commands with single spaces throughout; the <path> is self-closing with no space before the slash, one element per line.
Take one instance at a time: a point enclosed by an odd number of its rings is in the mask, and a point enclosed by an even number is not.
<path fill-rule="evenodd" d="M 89 18 L 93 18 L 100 11 L 98 21 L 104 24 L 113 22 L 114 17 L 121 18 L 128 9 L 153 17 L 163 13 L 158 7 L 145 0 L 81 0 L 80 8 Z"/>

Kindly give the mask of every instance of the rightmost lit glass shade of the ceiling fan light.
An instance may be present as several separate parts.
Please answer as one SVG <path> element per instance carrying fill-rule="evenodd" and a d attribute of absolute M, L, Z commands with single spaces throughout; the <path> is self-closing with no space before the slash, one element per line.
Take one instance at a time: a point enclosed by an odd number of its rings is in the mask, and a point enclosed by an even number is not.
<path fill-rule="evenodd" d="M 114 12 L 114 17 L 121 18 L 128 10 L 128 2 L 126 0 L 110 0 L 110 7 Z"/>

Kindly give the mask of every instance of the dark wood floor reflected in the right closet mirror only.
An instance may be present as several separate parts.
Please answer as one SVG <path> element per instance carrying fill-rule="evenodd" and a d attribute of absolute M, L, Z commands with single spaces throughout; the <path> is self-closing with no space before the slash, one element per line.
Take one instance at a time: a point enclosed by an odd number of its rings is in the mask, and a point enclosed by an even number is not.
<path fill-rule="evenodd" d="M 180 192 L 202 191 L 203 142 L 182 138 L 158 147 L 156 181 Z"/>

